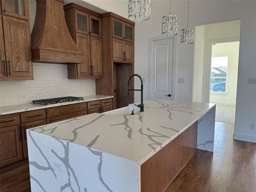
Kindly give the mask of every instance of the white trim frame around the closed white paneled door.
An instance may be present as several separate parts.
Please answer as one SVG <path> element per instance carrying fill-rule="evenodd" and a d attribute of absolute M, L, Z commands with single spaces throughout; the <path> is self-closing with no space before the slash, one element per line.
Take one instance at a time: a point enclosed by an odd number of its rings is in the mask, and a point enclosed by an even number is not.
<path fill-rule="evenodd" d="M 177 61 L 177 36 L 150 37 L 148 41 L 148 99 L 152 99 L 152 51 L 153 41 L 173 39 L 172 53 L 172 100 L 176 100 L 176 61 Z"/>

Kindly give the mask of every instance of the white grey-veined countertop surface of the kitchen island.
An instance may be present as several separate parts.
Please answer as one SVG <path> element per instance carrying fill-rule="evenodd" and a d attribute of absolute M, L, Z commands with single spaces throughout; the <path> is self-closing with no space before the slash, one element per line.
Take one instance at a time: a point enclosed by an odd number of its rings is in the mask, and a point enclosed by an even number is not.
<path fill-rule="evenodd" d="M 215 106 L 172 100 L 144 105 L 135 115 L 93 113 L 29 130 L 142 164 Z"/>

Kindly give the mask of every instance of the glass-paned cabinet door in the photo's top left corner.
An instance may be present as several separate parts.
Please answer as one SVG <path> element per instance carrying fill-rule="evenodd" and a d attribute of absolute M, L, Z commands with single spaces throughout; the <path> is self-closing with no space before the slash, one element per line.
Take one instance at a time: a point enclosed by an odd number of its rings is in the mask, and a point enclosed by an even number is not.
<path fill-rule="evenodd" d="M 25 20 L 29 19 L 28 0 L 1 0 L 1 2 L 4 15 Z"/>

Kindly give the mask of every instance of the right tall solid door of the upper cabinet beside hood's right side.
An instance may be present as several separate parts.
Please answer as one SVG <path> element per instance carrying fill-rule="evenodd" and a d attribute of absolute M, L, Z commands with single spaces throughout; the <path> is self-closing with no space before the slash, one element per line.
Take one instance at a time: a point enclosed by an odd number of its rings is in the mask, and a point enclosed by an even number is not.
<path fill-rule="evenodd" d="M 92 76 L 103 76 L 101 38 L 90 36 Z"/>

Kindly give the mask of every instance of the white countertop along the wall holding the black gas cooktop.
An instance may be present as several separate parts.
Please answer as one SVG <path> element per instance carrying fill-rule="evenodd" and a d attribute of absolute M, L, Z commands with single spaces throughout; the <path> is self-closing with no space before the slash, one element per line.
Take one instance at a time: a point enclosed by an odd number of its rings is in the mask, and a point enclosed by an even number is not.
<path fill-rule="evenodd" d="M 102 100 L 102 99 L 108 99 L 112 98 L 113 96 L 109 95 L 89 95 L 89 96 L 82 96 L 84 100 L 78 100 L 78 101 L 71 101 L 66 103 L 57 103 L 52 105 L 41 105 L 36 103 L 24 103 L 24 104 L 17 104 L 17 105 L 6 105 L 0 107 L 0 115 L 6 115 L 11 113 L 19 113 L 24 111 L 31 111 L 36 109 L 43 109 L 43 108 L 50 108 L 50 107 L 57 107 L 62 105 L 70 105 L 74 103 L 81 103 L 81 102 L 88 102 L 88 101 L 94 101 L 94 100 Z"/>

